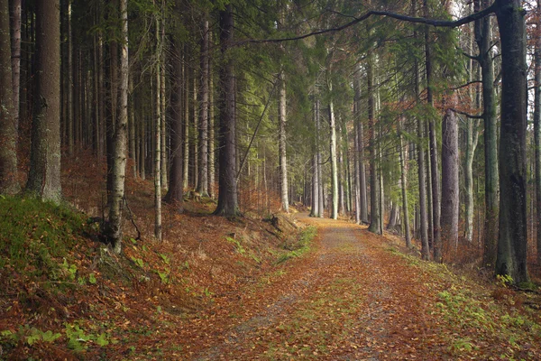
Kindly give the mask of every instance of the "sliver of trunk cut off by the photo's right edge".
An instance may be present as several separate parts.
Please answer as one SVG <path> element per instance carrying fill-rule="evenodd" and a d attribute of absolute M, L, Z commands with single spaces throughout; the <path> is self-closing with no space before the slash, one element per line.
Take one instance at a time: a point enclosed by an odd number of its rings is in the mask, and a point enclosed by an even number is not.
<path fill-rule="evenodd" d="M 536 30 L 541 29 L 541 0 L 537 0 Z M 534 140 L 536 143 L 536 246 L 537 264 L 541 265 L 541 34 L 536 34 Z M 533 236 L 533 235 L 532 235 Z"/>

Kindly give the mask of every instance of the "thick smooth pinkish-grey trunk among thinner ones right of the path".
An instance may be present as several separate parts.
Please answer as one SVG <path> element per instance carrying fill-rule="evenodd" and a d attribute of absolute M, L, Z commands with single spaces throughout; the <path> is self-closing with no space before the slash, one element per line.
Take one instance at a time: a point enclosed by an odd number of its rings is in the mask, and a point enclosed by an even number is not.
<path fill-rule="evenodd" d="M 446 245 L 458 245 L 459 180 L 458 119 L 454 111 L 445 111 L 442 123 L 442 239 Z"/>

